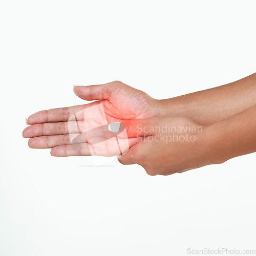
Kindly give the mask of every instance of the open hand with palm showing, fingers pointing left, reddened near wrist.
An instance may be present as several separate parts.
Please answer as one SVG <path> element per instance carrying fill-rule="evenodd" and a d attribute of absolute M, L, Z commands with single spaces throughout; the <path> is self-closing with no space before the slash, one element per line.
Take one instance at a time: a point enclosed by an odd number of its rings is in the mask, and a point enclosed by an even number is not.
<path fill-rule="evenodd" d="M 51 155 L 58 157 L 118 155 L 120 151 L 115 138 L 97 144 L 91 144 L 90 138 L 87 138 L 87 141 L 80 141 L 74 146 L 70 134 L 73 134 L 74 137 L 78 136 L 80 132 L 106 123 L 123 122 L 156 115 L 157 100 L 119 81 L 97 86 L 74 87 L 74 92 L 84 100 L 98 101 L 32 114 L 27 119 L 27 123 L 31 126 L 26 127 L 23 131 L 25 138 L 31 138 L 28 142 L 30 147 L 52 148 Z M 79 116 L 78 126 L 83 127 L 80 130 L 76 125 L 76 120 L 72 119 L 76 113 L 79 113 L 77 114 Z M 129 146 L 137 143 L 137 139 L 129 139 L 128 147 L 127 138 L 119 142 L 121 152 L 124 152 L 128 150 Z"/>

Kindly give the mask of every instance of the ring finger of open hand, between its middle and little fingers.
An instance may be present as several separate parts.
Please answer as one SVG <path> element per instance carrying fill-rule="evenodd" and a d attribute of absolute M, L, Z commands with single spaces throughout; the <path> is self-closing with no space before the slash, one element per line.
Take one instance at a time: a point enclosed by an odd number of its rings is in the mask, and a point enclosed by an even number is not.
<path fill-rule="evenodd" d="M 74 136 L 78 136 L 79 134 L 73 134 Z M 79 143 L 83 143 L 87 141 L 79 141 Z M 41 136 L 34 137 L 29 139 L 28 145 L 31 148 L 52 148 L 58 145 L 68 145 L 71 144 L 70 135 L 56 135 L 56 136 Z"/>

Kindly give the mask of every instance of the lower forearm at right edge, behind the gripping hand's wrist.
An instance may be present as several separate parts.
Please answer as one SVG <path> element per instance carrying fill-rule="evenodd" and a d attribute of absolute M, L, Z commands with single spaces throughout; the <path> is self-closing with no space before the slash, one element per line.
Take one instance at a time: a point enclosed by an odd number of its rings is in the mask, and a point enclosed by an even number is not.
<path fill-rule="evenodd" d="M 256 152 L 256 105 L 209 125 L 202 135 L 211 163 Z"/>

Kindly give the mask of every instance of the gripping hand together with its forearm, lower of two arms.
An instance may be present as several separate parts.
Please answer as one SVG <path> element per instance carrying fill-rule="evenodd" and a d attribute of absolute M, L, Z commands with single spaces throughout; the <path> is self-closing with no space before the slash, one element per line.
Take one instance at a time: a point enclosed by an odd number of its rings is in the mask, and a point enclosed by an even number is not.
<path fill-rule="evenodd" d="M 129 137 L 146 136 L 123 156 L 122 164 L 139 164 L 149 175 L 170 175 L 256 152 L 256 106 L 210 125 L 199 125 L 185 117 L 153 117 L 125 122 Z M 201 127 L 198 132 L 148 132 L 148 127 Z M 138 126 L 140 125 L 140 126 Z M 146 133 L 141 134 L 141 125 Z M 157 129 L 155 129 L 157 130 Z M 144 129 L 143 129 L 144 131 Z M 160 140 L 160 135 L 186 136 L 190 139 Z M 158 137 L 157 137 L 158 136 Z M 193 139 L 191 139 L 194 136 Z"/>

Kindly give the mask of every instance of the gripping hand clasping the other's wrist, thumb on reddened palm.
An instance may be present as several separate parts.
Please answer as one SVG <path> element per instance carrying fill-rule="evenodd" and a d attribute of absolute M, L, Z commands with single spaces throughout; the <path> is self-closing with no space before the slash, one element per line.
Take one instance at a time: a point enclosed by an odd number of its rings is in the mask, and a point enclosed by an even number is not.
<path fill-rule="evenodd" d="M 140 142 L 119 157 L 139 164 L 149 175 L 170 175 L 211 164 L 206 127 L 184 117 L 153 117 L 124 122 L 128 137 Z"/>

